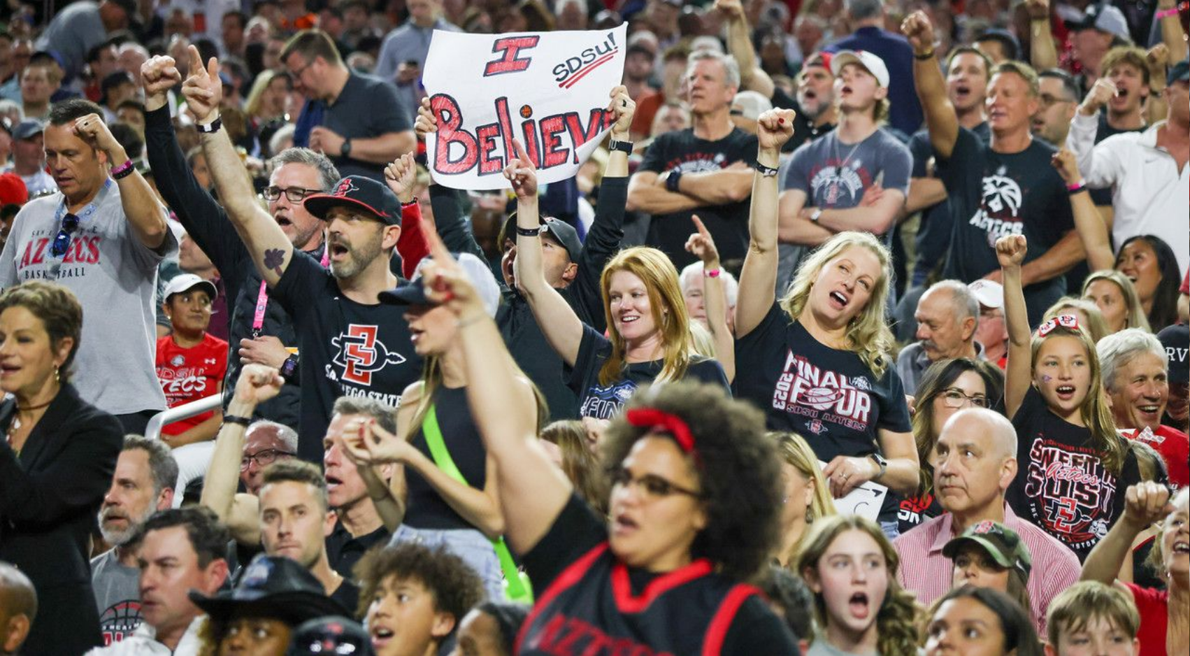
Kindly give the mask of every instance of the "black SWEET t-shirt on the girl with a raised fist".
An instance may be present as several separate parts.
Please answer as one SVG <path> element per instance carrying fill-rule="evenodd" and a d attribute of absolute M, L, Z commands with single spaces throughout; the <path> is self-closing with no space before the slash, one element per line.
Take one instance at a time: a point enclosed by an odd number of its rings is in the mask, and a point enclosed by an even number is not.
<path fill-rule="evenodd" d="M 1115 476 L 1091 446 L 1091 431 L 1051 412 L 1032 388 L 1013 426 L 1017 474 L 1008 488 L 1008 505 L 1085 560 L 1123 512 L 1125 491 L 1140 482 L 1136 456 L 1128 449 Z"/>

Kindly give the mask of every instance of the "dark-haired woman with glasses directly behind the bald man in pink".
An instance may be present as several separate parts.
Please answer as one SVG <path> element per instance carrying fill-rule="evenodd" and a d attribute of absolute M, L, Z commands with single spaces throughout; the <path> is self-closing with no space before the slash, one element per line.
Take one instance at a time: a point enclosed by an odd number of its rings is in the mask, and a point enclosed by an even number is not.
<path fill-rule="evenodd" d="M 987 407 L 1002 413 L 1003 395 L 1004 374 L 985 360 L 942 360 L 931 364 L 922 374 L 913 414 L 913 439 L 917 444 L 917 460 L 922 463 L 921 476 L 917 492 L 901 501 L 897 519 L 902 533 L 944 512 L 934 498 L 934 469 L 929 466 L 929 454 L 946 420 L 966 407 Z"/>

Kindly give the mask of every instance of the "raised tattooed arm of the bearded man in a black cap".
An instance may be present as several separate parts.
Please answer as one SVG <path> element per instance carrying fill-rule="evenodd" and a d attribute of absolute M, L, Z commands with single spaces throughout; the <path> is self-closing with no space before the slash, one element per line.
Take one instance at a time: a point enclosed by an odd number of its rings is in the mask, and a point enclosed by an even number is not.
<path fill-rule="evenodd" d="M 218 71 L 219 62 L 214 57 L 211 57 L 203 68 L 198 49 L 190 46 L 190 76 L 182 85 L 182 93 L 202 125 L 219 118 L 223 83 L 219 81 Z M 252 262 L 256 263 L 261 276 L 273 287 L 293 261 L 294 246 L 281 231 L 281 226 L 257 202 L 251 177 L 246 174 L 227 132 L 218 130 L 202 133 L 201 140 L 211 177 L 215 182 L 219 199 L 227 210 L 227 217 L 252 255 Z"/>

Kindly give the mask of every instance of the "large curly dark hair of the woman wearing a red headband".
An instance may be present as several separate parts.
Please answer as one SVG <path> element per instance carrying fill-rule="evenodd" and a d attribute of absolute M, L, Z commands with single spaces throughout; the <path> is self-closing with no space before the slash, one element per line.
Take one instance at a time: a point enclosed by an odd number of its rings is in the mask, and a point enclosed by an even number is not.
<path fill-rule="evenodd" d="M 765 436 L 764 416 L 720 387 L 695 382 L 645 388 L 627 410 L 641 407 L 679 417 L 694 437 L 694 470 L 707 526 L 695 537 L 690 555 L 708 558 L 728 577 L 757 579 L 781 531 L 781 457 Z M 603 438 L 603 462 L 624 462 L 632 445 L 651 431 L 622 416 L 613 420 Z"/>

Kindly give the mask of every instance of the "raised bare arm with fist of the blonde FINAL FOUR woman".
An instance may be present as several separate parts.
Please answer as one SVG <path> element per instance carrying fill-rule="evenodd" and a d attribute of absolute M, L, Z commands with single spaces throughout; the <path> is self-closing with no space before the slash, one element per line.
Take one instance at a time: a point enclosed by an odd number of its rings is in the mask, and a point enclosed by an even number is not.
<path fill-rule="evenodd" d="M 769 110 L 757 118 L 757 164 L 776 170 L 781 146 L 794 136 L 793 110 Z M 740 271 L 735 333 L 752 332 L 769 313 L 777 288 L 777 176 L 760 170 L 752 179 L 749 249 Z"/>

